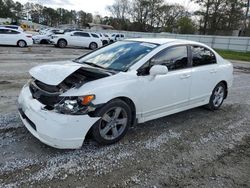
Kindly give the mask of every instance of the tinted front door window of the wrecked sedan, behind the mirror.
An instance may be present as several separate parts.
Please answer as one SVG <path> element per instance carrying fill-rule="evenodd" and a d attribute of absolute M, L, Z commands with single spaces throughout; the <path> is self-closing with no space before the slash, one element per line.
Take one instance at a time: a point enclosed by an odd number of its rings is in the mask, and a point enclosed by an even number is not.
<path fill-rule="evenodd" d="M 151 65 L 166 65 L 169 71 L 187 68 L 187 47 L 177 46 L 169 48 L 157 54 L 151 61 Z"/>

